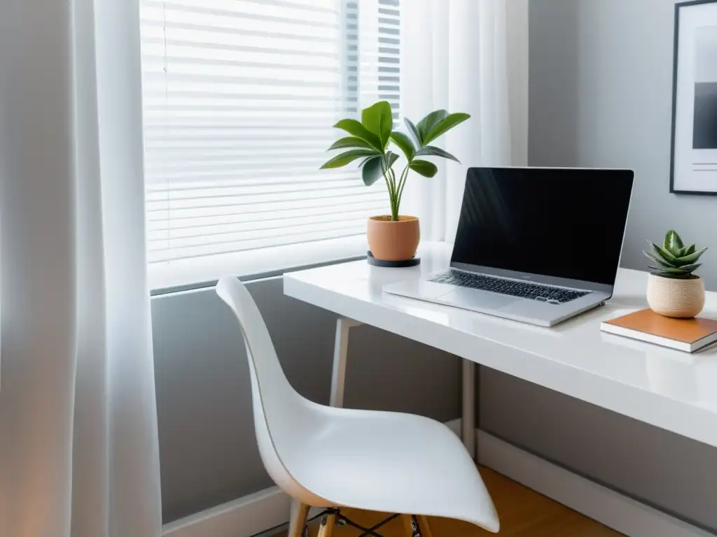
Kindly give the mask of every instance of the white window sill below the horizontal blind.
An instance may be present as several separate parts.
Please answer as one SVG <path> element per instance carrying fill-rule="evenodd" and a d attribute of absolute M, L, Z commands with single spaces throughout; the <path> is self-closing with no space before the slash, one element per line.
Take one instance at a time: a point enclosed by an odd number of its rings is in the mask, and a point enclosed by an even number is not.
<path fill-rule="evenodd" d="M 260 250 L 181 259 L 148 266 L 153 296 L 213 286 L 222 276 L 260 279 L 284 271 L 366 256 L 366 236 L 275 246 Z"/>

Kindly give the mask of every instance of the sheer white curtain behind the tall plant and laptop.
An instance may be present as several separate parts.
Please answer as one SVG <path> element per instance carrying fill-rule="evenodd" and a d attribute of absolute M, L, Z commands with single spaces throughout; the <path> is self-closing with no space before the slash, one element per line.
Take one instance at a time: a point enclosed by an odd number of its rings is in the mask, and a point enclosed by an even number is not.
<path fill-rule="evenodd" d="M 404 213 L 421 218 L 424 240 L 453 241 L 471 166 L 527 165 L 528 1 L 402 2 L 402 115 L 467 112 L 441 147 L 439 175 L 409 179 Z"/>

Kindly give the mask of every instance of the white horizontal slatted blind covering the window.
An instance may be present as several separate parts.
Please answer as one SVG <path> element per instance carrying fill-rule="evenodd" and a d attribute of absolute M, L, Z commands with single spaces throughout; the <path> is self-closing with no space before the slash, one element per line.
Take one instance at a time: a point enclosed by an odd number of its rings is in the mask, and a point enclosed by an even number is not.
<path fill-rule="evenodd" d="M 357 236 L 386 213 L 342 117 L 399 116 L 399 0 L 141 0 L 148 261 Z"/>

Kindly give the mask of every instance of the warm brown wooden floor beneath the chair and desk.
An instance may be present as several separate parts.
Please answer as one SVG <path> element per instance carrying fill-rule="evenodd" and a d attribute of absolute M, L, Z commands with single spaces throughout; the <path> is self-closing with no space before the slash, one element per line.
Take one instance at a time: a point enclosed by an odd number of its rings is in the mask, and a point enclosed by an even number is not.
<path fill-rule="evenodd" d="M 617 537 L 617 533 L 560 503 L 519 485 L 503 475 L 480 468 L 485 485 L 495 502 L 500 516 L 500 537 Z M 344 511 L 348 518 L 362 526 L 372 526 L 386 518 L 380 513 Z M 487 537 L 495 535 L 471 524 L 430 518 L 433 537 Z M 310 534 L 317 533 L 316 523 L 310 525 Z M 379 530 L 386 537 L 405 537 L 402 521 L 397 518 Z M 344 526 L 336 528 L 333 537 L 356 537 L 359 531 Z M 285 536 L 286 533 L 280 533 Z"/>

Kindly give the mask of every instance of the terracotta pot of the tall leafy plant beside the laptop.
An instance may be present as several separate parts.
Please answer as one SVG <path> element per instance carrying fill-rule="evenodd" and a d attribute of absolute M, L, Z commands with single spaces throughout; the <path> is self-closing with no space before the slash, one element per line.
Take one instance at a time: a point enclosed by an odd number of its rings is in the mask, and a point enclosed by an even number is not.
<path fill-rule="evenodd" d="M 415 216 L 371 216 L 368 226 L 369 249 L 382 261 L 406 261 L 416 255 L 421 229 Z"/>

